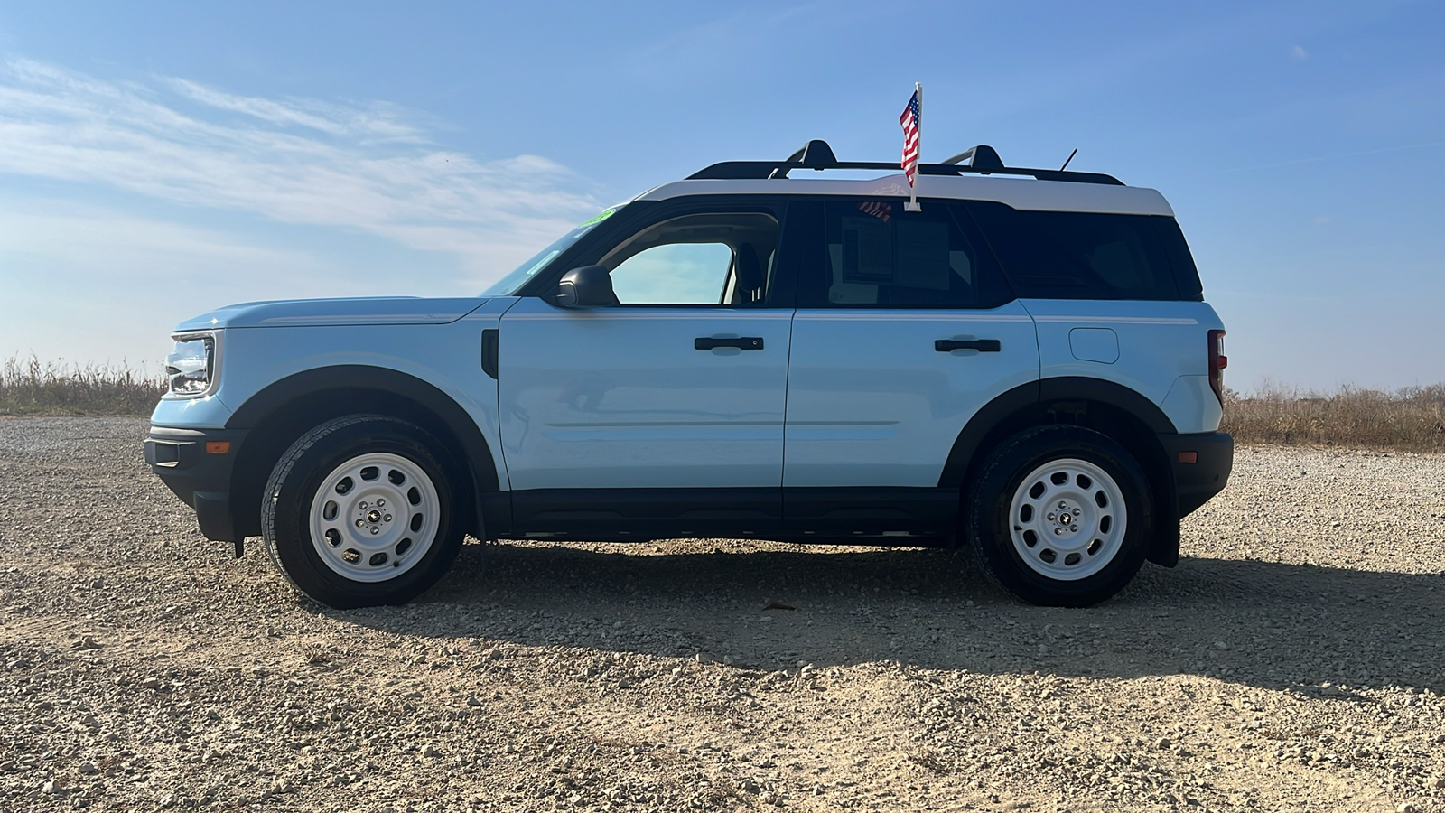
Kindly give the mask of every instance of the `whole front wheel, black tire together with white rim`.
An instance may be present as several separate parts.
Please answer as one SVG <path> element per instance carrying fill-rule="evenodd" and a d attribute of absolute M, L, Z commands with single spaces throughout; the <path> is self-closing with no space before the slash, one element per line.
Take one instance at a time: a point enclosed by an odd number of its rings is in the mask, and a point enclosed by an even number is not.
<path fill-rule="evenodd" d="M 337 609 L 416 597 L 447 573 L 462 542 L 442 448 L 420 427 L 387 415 L 347 415 L 301 435 L 262 499 L 272 561 L 298 590 Z M 322 496 L 331 499 L 314 514 Z"/>

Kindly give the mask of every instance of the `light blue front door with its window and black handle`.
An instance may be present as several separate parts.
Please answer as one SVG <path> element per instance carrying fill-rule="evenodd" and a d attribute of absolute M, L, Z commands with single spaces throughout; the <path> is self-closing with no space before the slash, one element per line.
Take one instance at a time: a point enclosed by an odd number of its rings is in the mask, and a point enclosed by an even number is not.
<path fill-rule="evenodd" d="M 610 269 L 616 305 L 525 297 L 503 315 L 514 501 L 530 489 L 779 489 L 793 315 L 770 307 L 780 231 L 782 207 L 659 208 L 590 257 Z"/>

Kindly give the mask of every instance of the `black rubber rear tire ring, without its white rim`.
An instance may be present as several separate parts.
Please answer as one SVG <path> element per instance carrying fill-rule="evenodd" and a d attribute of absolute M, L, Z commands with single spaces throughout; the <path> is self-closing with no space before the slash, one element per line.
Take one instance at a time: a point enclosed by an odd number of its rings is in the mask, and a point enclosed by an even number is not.
<path fill-rule="evenodd" d="M 1107 472 L 1126 511 L 1124 538 L 1113 561 L 1077 580 L 1049 579 L 1029 567 L 1012 535 L 1014 492 L 1038 467 L 1062 459 L 1087 460 Z M 970 502 L 968 535 L 985 571 L 1035 605 L 1090 606 L 1111 597 L 1139 573 L 1153 538 L 1152 490 L 1143 469 L 1123 446 L 1082 427 L 1040 427 L 1003 443 L 984 464 Z"/>

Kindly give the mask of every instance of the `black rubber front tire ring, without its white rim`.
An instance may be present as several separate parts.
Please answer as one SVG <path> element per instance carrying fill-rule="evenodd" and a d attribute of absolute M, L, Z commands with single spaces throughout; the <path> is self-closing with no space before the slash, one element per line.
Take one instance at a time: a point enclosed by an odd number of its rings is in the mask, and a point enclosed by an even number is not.
<path fill-rule="evenodd" d="M 402 603 L 435 584 L 461 548 L 455 492 L 447 467 L 432 450 L 441 446 L 419 427 L 386 417 L 338 418 L 316 427 L 282 456 L 266 489 L 263 528 L 267 547 L 288 579 L 308 596 L 345 609 Z M 355 582 L 322 561 L 311 538 L 316 490 L 338 466 L 360 454 L 405 457 L 432 480 L 438 527 L 431 548 L 406 573 L 384 582 Z"/>

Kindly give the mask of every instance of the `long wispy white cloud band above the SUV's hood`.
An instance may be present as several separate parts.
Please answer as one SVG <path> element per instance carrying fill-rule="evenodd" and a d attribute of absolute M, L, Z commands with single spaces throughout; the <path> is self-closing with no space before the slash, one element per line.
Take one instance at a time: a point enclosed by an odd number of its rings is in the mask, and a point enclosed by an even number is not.
<path fill-rule="evenodd" d="M 0 174 L 363 230 L 496 278 L 597 208 L 540 156 L 429 145 L 386 104 L 236 95 L 179 78 L 95 80 L 0 62 Z M 412 116 L 416 119 L 416 116 Z"/>

